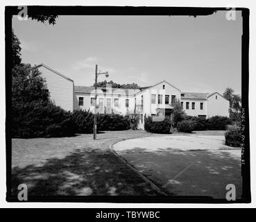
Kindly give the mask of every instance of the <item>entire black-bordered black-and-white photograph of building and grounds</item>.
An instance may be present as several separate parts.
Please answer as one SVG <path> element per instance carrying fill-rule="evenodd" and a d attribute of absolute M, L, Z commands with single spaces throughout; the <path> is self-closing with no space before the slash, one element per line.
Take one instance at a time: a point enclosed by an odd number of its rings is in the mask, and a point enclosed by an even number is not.
<path fill-rule="evenodd" d="M 250 203 L 248 8 L 5 22 L 7 201 Z"/>

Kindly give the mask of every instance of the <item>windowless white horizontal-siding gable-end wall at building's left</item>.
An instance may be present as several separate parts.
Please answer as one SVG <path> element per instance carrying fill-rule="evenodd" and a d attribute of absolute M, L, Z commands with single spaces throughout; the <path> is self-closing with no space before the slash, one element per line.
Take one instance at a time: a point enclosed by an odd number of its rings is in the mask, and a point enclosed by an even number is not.
<path fill-rule="evenodd" d="M 42 78 L 46 80 L 46 87 L 49 90 L 50 99 L 56 105 L 67 111 L 74 110 L 74 82 L 60 76 L 44 66 L 39 66 Z"/>

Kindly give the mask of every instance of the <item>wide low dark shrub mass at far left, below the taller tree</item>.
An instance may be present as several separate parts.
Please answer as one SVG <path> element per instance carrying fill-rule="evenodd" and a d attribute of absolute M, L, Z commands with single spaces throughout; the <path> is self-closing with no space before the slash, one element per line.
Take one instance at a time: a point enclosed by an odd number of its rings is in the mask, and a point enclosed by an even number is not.
<path fill-rule="evenodd" d="M 12 137 L 66 137 L 74 134 L 71 112 L 51 102 L 12 104 Z"/>

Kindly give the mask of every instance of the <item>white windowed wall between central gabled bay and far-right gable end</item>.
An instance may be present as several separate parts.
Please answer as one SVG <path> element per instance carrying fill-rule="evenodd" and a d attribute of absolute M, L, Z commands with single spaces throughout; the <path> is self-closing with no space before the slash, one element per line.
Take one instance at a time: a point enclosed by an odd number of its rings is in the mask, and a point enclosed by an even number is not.
<path fill-rule="evenodd" d="M 183 110 L 188 116 L 205 115 L 207 116 L 207 100 L 206 99 L 181 99 L 183 102 Z M 189 102 L 189 109 L 186 108 L 186 103 Z M 192 110 L 192 103 L 195 103 L 195 109 Z M 200 103 L 203 103 L 203 110 L 200 110 Z"/>

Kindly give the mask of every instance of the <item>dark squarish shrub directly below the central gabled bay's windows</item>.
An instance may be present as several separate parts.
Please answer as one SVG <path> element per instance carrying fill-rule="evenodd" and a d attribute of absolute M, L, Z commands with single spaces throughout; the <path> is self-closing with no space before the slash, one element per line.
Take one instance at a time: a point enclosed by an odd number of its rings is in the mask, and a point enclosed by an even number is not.
<path fill-rule="evenodd" d="M 171 119 L 165 117 L 163 121 L 152 121 L 152 117 L 145 117 L 144 129 L 149 133 L 170 133 Z"/>

